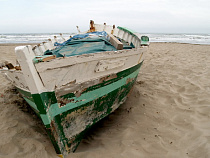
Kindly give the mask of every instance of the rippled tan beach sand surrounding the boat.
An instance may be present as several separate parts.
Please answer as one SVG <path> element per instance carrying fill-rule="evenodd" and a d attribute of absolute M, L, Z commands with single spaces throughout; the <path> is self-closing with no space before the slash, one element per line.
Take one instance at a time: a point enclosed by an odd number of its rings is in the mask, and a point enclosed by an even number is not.
<path fill-rule="evenodd" d="M 0 61 L 15 61 L 14 44 Z M 0 158 L 56 158 L 44 126 L 0 74 Z M 210 157 L 210 45 L 151 43 L 133 92 L 68 158 Z"/>

